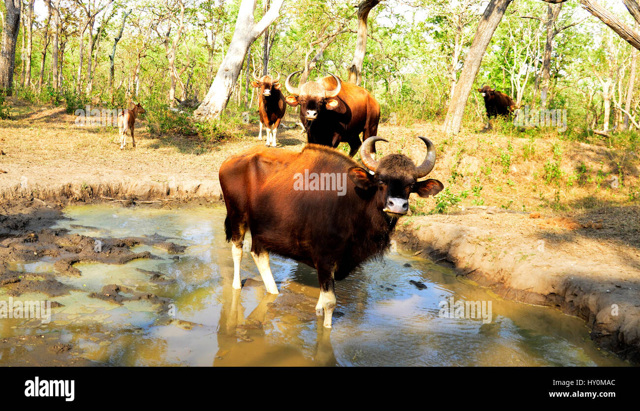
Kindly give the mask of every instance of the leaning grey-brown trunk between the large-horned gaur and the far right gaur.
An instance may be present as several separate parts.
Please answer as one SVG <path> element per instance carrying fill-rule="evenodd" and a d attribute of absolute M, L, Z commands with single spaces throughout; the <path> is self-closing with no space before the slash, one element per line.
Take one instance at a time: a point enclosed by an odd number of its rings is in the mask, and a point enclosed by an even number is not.
<path fill-rule="evenodd" d="M 449 109 L 447 110 L 447 117 L 442 126 L 442 130 L 447 134 L 458 134 L 458 132 L 460 132 L 462 116 L 465 114 L 465 105 L 467 105 L 471 87 L 480 69 L 484 52 L 511 1 L 512 0 L 491 0 L 480 18 L 474 41 L 471 43 L 465 64 L 460 73 L 460 79 L 458 79 L 458 84 L 456 85 L 455 93 L 451 98 L 451 104 L 449 104 Z"/>

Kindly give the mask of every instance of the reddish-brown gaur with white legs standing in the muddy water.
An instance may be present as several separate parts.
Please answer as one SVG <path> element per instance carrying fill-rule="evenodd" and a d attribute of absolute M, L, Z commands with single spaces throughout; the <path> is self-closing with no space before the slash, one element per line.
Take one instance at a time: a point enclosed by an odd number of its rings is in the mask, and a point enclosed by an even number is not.
<path fill-rule="evenodd" d="M 419 166 L 403 154 L 374 160 L 376 141 L 387 141 L 380 137 L 367 139 L 360 148 L 367 169 L 337 150 L 316 144 L 308 144 L 300 153 L 254 147 L 225 160 L 220 166 L 220 186 L 227 206 L 225 233 L 234 258 L 232 286 L 241 287 L 242 247 L 249 229 L 251 253 L 269 293 L 278 293 L 269 252 L 316 268 L 321 290 L 316 314 L 324 312 L 324 327 L 331 328 L 334 280 L 344 279 L 387 250 L 397 219 L 408 211 L 409 194 L 428 197 L 444 188 L 438 180 L 417 181 L 435 165 L 433 143 L 420 139 L 427 155 Z M 305 170 L 347 173 L 346 195 L 294 190 L 294 176 Z"/>

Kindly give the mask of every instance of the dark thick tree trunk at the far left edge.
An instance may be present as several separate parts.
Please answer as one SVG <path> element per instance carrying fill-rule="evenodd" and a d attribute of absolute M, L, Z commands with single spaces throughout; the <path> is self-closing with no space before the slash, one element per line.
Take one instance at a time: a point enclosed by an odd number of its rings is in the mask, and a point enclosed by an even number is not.
<path fill-rule="evenodd" d="M 13 69 L 15 68 L 15 45 L 20 31 L 20 1 L 4 0 L 5 24 L 0 51 L 0 93 L 13 94 Z"/>

